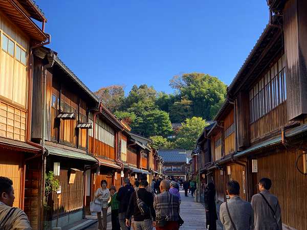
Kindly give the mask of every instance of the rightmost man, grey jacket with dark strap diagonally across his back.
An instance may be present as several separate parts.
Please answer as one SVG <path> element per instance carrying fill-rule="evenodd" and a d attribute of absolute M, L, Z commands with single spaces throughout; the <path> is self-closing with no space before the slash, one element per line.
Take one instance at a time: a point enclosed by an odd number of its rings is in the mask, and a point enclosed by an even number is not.
<path fill-rule="evenodd" d="M 260 193 L 252 197 L 255 230 L 282 230 L 280 206 L 278 198 L 269 192 L 271 186 L 269 178 L 260 179 Z"/>

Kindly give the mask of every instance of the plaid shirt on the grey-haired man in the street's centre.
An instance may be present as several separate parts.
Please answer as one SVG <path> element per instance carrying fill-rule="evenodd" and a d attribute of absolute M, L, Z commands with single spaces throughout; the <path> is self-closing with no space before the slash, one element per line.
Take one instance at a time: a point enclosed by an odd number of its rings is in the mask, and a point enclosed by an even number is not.
<path fill-rule="evenodd" d="M 168 191 L 164 191 L 153 198 L 153 208 L 156 210 L 156 220 L 165 217 L 168 221 L 179 220 L 179 199 Z"/>

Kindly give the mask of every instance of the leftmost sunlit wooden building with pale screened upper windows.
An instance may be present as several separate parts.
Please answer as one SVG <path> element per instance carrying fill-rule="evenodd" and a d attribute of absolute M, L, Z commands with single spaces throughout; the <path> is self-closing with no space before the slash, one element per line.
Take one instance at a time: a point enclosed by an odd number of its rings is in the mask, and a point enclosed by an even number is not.
<path fill-rule="evenodd" d="M 0 175 L 13 180 L 13 205 L 32 213 L 30 219 L 35 223 L 39 221 L 39 201 L 35 200 L 32 209 L 28 197 L 30 193 L 39 196 L 39 175 L 31 166 L 37 164 L 42 147 L 30 137 L 32 50 L 50 42 L 44 32 L 46 21 L 30 1 L 0 2 Z"/>

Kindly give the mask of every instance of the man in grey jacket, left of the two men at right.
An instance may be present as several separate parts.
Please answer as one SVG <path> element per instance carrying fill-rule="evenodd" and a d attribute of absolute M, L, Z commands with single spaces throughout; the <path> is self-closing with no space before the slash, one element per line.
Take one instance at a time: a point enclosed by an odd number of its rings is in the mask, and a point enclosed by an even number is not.
<path fill-rule="evenodd" d="M 252 205 L 239 197 L 239 183 L 235 180 L 228 181 L 227 193 L 230 200 L 222 203 L 220 209 L 220 219 L 224 225 L 224 229 L 253 230 L 254 213 Z"/>

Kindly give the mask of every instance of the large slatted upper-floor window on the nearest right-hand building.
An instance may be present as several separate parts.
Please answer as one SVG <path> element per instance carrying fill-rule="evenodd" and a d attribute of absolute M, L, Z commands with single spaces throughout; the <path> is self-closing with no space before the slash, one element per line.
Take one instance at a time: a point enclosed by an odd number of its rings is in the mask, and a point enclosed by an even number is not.
<path fill-rule="evenodd" d="M 250 89 L 249 97 L 251 123 L 287 99 L 285 55 Z"/>

